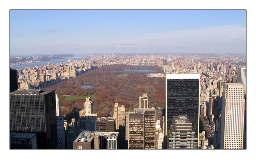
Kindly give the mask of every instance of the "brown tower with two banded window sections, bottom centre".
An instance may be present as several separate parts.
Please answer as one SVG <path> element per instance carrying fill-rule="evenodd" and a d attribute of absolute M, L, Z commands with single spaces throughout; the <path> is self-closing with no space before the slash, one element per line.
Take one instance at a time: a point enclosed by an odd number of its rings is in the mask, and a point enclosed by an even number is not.
<path fill-rule="evenodd" d="M 155 149 L 156 110 L 134 109 L 126 117 L 128 149 Z"/>

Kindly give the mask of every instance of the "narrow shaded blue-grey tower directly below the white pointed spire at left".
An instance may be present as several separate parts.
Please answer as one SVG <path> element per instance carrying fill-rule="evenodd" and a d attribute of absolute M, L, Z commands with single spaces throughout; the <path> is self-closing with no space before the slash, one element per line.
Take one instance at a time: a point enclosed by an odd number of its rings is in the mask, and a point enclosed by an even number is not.
<path fill-rule="evenodd" d="M 63 116 L 57 116 L 58 149 L 66 149 L 64 129 L 65 129 L 64 128 L 64 117 Z"/>

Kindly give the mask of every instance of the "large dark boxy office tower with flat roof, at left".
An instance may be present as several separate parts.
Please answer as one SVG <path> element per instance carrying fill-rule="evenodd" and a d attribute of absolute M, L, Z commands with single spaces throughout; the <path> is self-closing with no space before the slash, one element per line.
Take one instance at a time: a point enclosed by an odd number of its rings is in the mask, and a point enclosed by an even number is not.
<path fill-rule="evenodd" d="M 10 93 L 10 132 L 36 133 L 37 149 L 56 149 L 55 90 Z"/>

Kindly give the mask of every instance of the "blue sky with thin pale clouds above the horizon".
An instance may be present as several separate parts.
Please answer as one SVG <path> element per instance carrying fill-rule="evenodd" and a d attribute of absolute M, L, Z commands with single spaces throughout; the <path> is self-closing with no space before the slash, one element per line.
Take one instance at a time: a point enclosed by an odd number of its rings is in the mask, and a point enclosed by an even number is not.
<path fill-rule="evenodd" d="M 10 10 L 10 55 L 246 53 L 245 10 Z"/>

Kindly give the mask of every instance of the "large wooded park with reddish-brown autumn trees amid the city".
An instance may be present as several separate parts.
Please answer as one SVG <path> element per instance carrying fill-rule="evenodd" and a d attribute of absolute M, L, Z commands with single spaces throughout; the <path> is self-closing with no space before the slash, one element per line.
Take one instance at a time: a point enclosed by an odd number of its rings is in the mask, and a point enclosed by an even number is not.
<path fill-rule="evenodd" d="M 147 72 L 133 69 L 147 69 Z M 148 94 L 148 108 L 154 107 L 156 118 L 161 120 L 165 81 L 162 77 L 147 77 L 149 73 L 163 73 L 163 70 L 157 66 L 109 65 L 45 89 L 56 90 L 62 116 L 68 122 L 71 118 L 79 118 L 86 97 L 91 97 L 93 113 L 98 117 L 112 117 L 115 103 L 124 105 L 126 112 L 138 108 L 139 96 L 143 92 Z M 81 87 L 83 85 L 93 87 Z"/>

